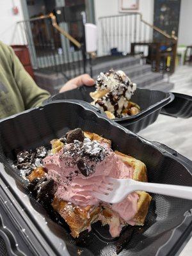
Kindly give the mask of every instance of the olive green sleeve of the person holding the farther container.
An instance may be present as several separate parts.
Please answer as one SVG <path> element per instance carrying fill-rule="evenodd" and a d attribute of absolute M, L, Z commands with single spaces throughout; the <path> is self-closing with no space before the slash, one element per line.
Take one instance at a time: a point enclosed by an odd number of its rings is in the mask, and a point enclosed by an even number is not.
<path fill-rule="evenodd" d="M 13 49 L 11 47 L 9 48 L 13 76 L 22 95 L 25 108 L 29 109 L 40 106 L 44 100 L 49 98 L 49 92 L 36 85 L 35 81 L 20 63 Z"/>

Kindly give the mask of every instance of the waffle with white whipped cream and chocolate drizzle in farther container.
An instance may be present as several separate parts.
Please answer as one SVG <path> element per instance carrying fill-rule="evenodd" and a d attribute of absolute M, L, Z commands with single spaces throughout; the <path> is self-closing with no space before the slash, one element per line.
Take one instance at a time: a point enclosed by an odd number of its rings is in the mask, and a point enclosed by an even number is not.
<path fill-rule="evenodd" d="M 90 93 L 91 104 L 104 111 L 109 119 L 137 115 L 140 107 L 130 101 L 135 90 L 136 84 L 122 70 L 100 72 L 96 90 Z"/>

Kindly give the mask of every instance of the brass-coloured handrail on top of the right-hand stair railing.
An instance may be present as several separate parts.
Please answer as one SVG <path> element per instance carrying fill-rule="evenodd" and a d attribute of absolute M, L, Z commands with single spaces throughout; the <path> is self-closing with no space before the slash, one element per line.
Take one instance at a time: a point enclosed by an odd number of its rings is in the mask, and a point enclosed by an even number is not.
<path fill-rule="evenodd" d="M 175 36 L 174 31 L 172 31 L 172 35 L 168 35 L 168 33 L 164 32 L 162 29 L 157 28 L 156 26 L 150 24 L 149 22 L 147 22 L 146 20 L 143 20 L 143 15 L 140 12 L 134 12 L 134 13 L 129 13 L 129 14 L 121 14 L 121 15 L 111 15 L 111 16 L 105 16 L 105 17 L 99 17 L 100 19 L 106 19 L 106 18 L 112 18 L 112 17 L 124 17 L 124 16 L 129 16 L 129 15 L 140 15 L 140 20 L 141 22 L 145 23 L 147 26 L 149 26 L 150 28 L 156 30 L 157 32 L 159 32 L 161 35 L 165 36 L 168 39 L 173 39 L 175 41 L 177 41 L 177 36 Z"/>

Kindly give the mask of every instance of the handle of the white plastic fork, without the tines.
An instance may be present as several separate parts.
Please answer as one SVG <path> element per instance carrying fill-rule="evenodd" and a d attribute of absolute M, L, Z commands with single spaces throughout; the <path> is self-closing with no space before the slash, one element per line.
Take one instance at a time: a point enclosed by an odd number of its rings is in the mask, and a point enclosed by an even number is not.
<path fill-rule="evenodd" d="M 132 180 L 132 188 L 134 191 L 143 190 L 151 193 L 192 200 L 192 187 L 189 186 L 157 184 Z"/>

